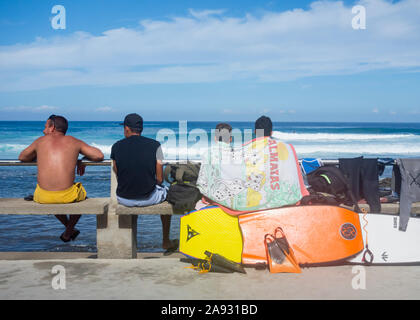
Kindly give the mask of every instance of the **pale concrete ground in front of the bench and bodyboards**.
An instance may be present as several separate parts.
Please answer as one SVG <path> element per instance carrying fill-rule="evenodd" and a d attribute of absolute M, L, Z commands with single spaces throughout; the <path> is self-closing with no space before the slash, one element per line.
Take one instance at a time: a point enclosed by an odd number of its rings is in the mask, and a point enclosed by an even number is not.
<path fill-rule="evenodd" d="M 420 299 L 420 266 L 199 274 L 179 257 L 99 260 L 87 253 L 1 253 L 0 299 Z M 53 273 L 57 265 L 64 269 Z M 53 288 L 64 284 L 65 289 Z"/>

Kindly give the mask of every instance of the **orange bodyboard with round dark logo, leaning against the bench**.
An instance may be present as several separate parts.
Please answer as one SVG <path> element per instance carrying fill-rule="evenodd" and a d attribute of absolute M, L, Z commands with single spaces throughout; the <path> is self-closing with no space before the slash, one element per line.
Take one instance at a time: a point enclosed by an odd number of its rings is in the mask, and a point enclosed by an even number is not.
<path fill-rule="evenodd" d="M 264 237 L 281 227 L 297 262 L 324 264 L 346 259 L 364 248 L 357 213 L 335 206 L 299 206 L 238 216 L 242 263 L 266 263 Z"/>

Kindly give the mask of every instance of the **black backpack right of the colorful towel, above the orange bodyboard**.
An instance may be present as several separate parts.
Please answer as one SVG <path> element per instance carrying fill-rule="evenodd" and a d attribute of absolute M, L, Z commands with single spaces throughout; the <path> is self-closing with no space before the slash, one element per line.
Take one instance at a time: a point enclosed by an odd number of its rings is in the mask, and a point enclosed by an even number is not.
<path fill-rule="evenodd" d="M 348 206 L 355 206 L 355 210 L 360 212 L 356 198 L 350 189 L 350 184 L 336 166 L 322 166 L 309 173 L 307 178 L 311 186 L 310 191 L 312 191 L 312 195 L 328 193 L 334 196 L 337 205 L 343 203 Z M 311 201 L 312 203 L 316 202 L 316 198 L 313 198 L 313 200 Z M 320 201 L 325 201 L 325 199 L 320 199 Z"/>

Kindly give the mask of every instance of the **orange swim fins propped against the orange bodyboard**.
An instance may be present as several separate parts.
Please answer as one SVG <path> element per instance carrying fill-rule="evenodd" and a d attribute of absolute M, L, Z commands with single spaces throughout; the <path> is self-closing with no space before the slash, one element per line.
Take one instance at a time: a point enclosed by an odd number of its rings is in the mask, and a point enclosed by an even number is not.
<path fill-rule="evenodd" d="M 302 272 L 282 228 L 276 228 L 274 235 L 266 234 L 264 244 L 271 273 Z"/>

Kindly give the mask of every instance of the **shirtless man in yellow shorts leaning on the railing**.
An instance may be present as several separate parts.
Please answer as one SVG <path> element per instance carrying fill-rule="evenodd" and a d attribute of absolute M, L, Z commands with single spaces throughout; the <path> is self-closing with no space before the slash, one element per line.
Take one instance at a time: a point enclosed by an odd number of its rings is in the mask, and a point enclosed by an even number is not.
<path fill-rule="evenodd" d="M 43 137 L 36 139 L 19 155 L 22 162 L 37 161 L 38 184 L 34 201 L 38 203 L 70 203 L 86 199 L 81 183 L 74 183 L 75 168 L 83 175 L 85 166 L 78 161 L 79 153 L 91 161 L 102 161 L 103 153 L 72 136 L 66 136 L 68 122 L 62 116 L 51 115 L 45 123 Z M 75 240 L 79 230 L 74 229 L 80 215 L 56 215 L 66 227 L 60 239 Z"/>

